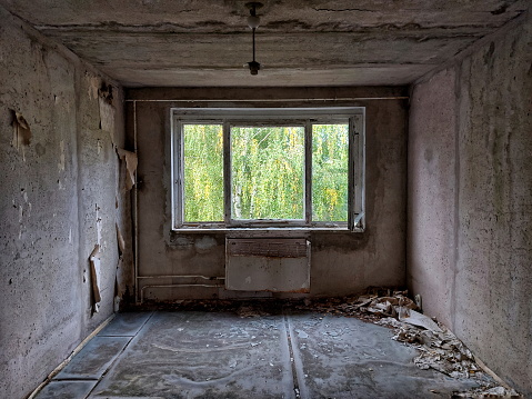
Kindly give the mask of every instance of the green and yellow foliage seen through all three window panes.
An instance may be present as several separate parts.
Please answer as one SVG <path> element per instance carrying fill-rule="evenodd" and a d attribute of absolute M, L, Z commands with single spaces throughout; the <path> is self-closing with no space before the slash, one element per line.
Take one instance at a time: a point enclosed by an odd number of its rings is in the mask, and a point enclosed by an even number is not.
<path fill-rule="evenodd" d="M 223 129 L 184 124 L 184 220 L 223 220 Z M 312 129 L 312 219 L 347 221 L 348 126 Z M 304 219 L 304 128 L 231 128 L 233 219 Z"/>

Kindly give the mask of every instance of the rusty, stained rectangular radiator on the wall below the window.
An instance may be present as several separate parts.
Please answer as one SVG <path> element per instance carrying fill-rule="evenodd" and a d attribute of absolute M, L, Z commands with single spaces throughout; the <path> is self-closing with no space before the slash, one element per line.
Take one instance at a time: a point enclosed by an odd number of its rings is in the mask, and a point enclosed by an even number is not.
<path fill-rule="evenodd" d="M 228 238 L 225 289 L 309 292 L 310 241 L 305 238 Z"/>

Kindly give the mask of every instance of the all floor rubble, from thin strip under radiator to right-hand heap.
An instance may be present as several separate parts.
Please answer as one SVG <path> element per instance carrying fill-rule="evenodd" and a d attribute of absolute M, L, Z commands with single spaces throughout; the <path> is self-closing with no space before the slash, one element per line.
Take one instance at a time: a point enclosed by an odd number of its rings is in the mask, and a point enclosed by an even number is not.
<path fill-rule="evenodd" d="M 168 305 L 164 306 L 168 309 Z M 445 326 L 422 315 L 406 290 L 369 288 L 363 295 L 345 298 L 304 300 L 182 300 L 170 305 L 181 310 L 232 311 L 241 318 L 278 315 L 284 311 L 317 311 L 355 317 L 394 330 L 392 339 L 415 347 L 414 363 L 451 378 L 475 379 L 478 389 L 455 392 L 453 398 L 523 398 L 513 389 L 499 386 L 476 365 L 473 353 Z"/>

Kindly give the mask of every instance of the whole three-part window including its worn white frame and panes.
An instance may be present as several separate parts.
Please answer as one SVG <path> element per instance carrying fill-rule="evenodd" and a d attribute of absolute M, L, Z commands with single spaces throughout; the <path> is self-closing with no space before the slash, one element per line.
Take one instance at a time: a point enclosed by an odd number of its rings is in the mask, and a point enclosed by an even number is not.
<path fill-rule="evenodd" d="M 364 228 L 364 109 L 172 110 L 174 229 Z"/>

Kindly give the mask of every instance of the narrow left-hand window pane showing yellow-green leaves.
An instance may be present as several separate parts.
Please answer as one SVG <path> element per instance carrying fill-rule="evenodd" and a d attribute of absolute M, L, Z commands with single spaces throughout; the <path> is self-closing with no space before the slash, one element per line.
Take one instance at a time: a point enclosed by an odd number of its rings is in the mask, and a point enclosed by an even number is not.
<path fill-rule="evenodd" d="M 184 221 L 223 221 L 223 129 L 184 124 Z"/>

